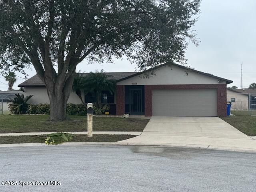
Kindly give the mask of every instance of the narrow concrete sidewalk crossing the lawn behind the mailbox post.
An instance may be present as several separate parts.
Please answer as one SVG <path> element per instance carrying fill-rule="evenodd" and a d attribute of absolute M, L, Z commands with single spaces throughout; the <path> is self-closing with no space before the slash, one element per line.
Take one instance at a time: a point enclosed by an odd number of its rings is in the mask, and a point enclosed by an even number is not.
<path fill-rule="evenodd" d="M 51 133 L 56 132 L 27 132 L 27 133 L 0 133 L 0 136 L 20 136 L 20 135 L 48 135 Z M 63 133 L 70 133 L 70 134 L 81 134 L 86 135 L 87 131 L 81 132 L 72 132 L 72 131 L 64 131 Z M 102 134 L 102 135 L 140 135 L 142 132 L 136 131 L 94 131 L 93 134 Z"/>

